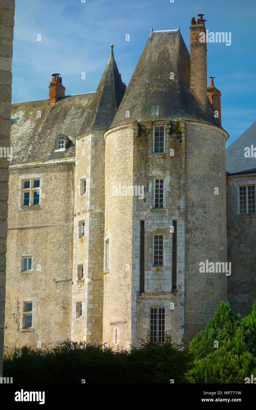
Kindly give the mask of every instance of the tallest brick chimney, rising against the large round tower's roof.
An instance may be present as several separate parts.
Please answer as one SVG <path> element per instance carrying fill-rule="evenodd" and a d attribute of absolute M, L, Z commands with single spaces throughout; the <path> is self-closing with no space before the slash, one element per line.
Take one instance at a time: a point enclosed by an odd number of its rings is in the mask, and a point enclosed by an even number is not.
<path fill-rule="evenodd" d="M 205 112 L 207 106 L 207 48 L 204 14 L 191 18 L 190 28 L 190 91 Z M 201 34 L 200 34 L 201 33 Z M 204 34 L 202 34 L 204 33 Z M 201 39 L 201 41 L 200 41 Z M 203 41 L 202 41 L 203 40 Z"/>

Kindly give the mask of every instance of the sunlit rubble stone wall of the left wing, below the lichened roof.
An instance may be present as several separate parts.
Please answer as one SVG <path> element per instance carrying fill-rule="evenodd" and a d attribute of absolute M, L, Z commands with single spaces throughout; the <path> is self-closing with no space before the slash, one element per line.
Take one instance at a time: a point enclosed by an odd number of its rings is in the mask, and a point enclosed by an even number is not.
<path fill-rule="evenodd" d="M 53 346 L 71 334 L 74 164 L 9 170 L 5 346 Z M 40 178 L 39 205 L 22 207 L 22 180 L 29 178 Z M 31 271 L 23 271 L 26 256 Z M 24 329 L 29 301 L 32 329 Z"/>

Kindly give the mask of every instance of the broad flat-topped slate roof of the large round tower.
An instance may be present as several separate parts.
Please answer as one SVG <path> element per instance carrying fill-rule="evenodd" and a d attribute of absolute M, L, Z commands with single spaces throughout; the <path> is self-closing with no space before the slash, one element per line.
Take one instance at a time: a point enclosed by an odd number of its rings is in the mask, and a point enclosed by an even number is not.
<path fill-rule="evenodd" d="M 151 32 L 111 128 L 131 121 L 180 118 L 221 128 L 210 101 L 204 113 L 190 93 L 190 56 L 180 30 Z"/>

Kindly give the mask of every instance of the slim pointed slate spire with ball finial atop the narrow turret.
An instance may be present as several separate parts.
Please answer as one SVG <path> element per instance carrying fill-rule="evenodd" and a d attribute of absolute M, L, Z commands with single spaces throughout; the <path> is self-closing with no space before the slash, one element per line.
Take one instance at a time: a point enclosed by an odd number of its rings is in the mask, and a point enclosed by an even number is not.
<path fill-rule="evenodd" d="M 122 101 L 125 87 L 115 62 L 113 46 L 110 58 L 88 109 L 80 133 L 108 130 Z"/>

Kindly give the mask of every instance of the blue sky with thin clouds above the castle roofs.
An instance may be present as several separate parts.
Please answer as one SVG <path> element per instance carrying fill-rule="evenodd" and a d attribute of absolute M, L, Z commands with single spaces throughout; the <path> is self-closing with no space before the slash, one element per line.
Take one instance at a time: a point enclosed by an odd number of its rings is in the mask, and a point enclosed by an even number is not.
<path fill-rule="evenodd" d="M 255 0 L 16 0 L 12 102 L 48 98 L 51 74 L 56 72 L 62 75 L 66 95 L 95 91 L 111 43 L 128 85 L 151 26 L 171 30 L 180 25 L 189 50 L 189 25 L 198 13 L 205 14 L 209 32 L 231 32 L 231 46 L 208 43 L 207 53 L 208 77 L 216 77 L 215 86 L 222 93 L 228 146 L 256 121 Z"/>

